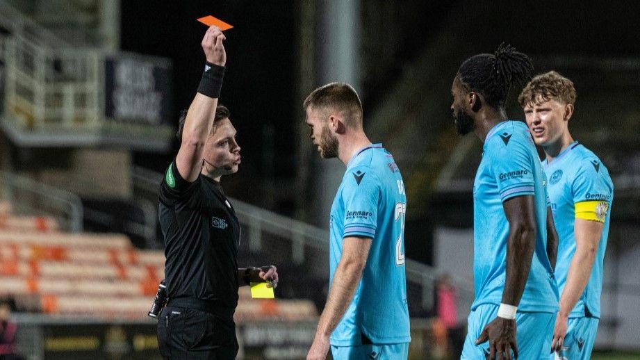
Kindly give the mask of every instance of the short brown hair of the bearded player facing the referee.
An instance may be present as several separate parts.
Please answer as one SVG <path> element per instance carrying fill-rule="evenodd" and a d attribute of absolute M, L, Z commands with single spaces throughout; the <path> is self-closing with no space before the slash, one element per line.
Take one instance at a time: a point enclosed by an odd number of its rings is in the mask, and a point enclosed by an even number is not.
<path fill-rule="evenodd" d="M 362 103 L 358 93 L 347 83 L 328 83 L 309 94 L 302 104 L 304 110 L 309 107 L 340 111 L 345 124 L 352 127 L 362 126 Z"/>

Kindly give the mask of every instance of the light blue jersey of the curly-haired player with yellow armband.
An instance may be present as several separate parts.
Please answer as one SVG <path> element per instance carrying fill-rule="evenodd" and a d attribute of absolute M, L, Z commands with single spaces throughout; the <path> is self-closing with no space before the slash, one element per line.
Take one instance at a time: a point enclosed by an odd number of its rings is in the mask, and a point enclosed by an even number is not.
<path fill-rule="evenodd" d="M 609 218 L 614 197 L 614 185 L 607 167 L 586 147 L 574 142 L 564 149 L 555 159 L 542 162 L 548 175 L 547 190 L 551 201 L 551 210 L 556 230 L 558 231 L 558 259 L 555 269 L 560 292 L 566 284 L 569 265 L 575 252 L 576 204 L 594 202 L 595 214 L 604 220 L 604 228 L 598 245 L 596 261 L 591 269 L 591 277 L 586 284 L 569 317 L 592 316 L 600 318 L 600 293 L 602 293 L 602 263 L 607 249 L 609 235 Z M 598 212 L 596 211 L 596 212 Z M 597 219 L 596 219 L 597 220 Z"/>

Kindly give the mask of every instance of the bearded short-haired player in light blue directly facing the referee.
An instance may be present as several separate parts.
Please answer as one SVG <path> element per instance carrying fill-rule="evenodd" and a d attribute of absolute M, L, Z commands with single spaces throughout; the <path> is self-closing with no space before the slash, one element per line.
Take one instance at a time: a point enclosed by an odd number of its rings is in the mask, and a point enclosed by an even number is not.
<path fill-rule="evenodd" d="M 329 344 L 334 359 L 407 359 L 407 197 L 400 170 L 364 133 L 362 105 L 350 85 L 313 90 L 304 110 L 320 156 L 347 166 L 331 206 L 331 288 L 307 359 L 325 359 Z"/>

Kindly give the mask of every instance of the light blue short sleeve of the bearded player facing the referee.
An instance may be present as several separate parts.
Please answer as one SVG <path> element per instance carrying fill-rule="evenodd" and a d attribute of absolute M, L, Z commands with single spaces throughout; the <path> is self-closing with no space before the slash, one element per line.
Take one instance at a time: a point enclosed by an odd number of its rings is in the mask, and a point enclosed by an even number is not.
<path fill-rule="evenodd" d="M 368 167 L 355 167 L 345 177 L 342 194 L 345 208 L 343 236 L 374 238 L 382 197 L 381 183 Z"/>

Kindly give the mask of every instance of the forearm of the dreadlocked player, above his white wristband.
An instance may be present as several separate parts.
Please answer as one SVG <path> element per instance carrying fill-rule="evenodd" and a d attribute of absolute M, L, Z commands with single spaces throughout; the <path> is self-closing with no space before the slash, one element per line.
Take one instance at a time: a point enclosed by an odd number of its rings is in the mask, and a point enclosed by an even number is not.
<path fill-rule="evenodd" d="M 518 306 L 525 291 L 536 244 L 536 228 L 527 223 L 509 224 L 507 240 L 507 274 L 502 303 Z"/>

